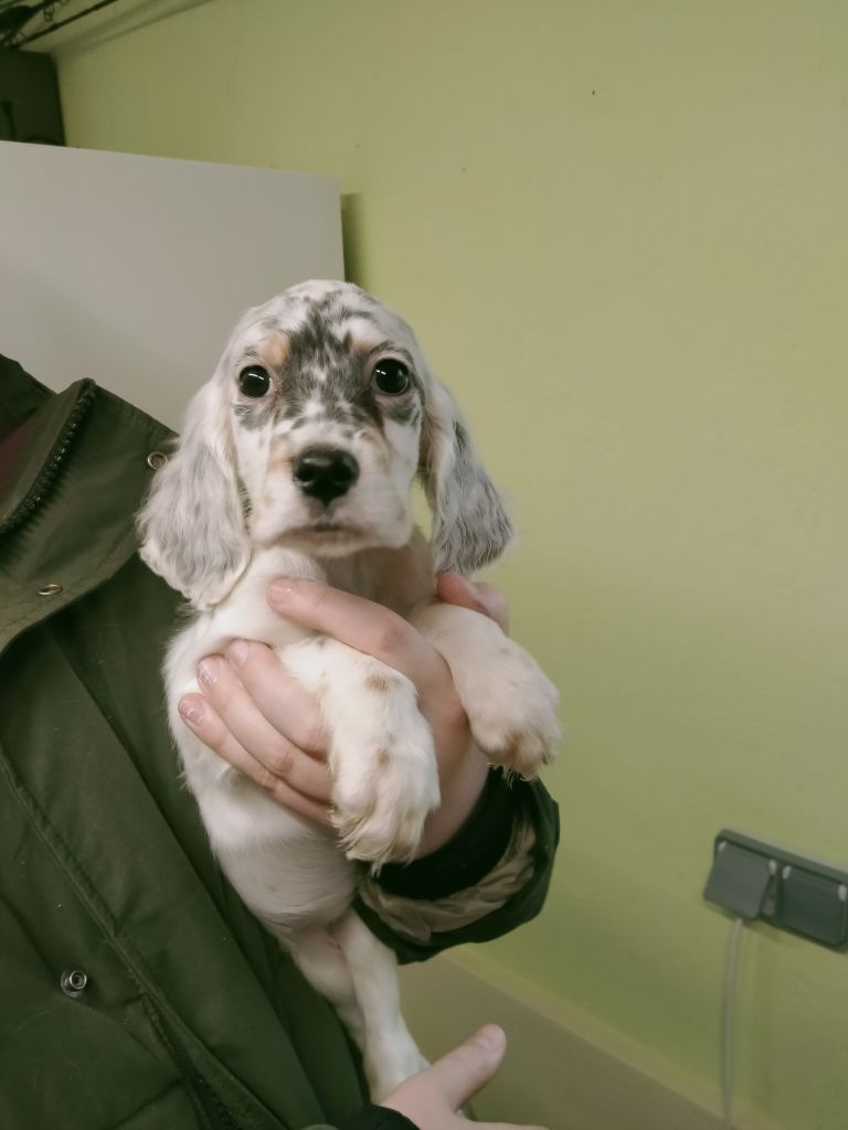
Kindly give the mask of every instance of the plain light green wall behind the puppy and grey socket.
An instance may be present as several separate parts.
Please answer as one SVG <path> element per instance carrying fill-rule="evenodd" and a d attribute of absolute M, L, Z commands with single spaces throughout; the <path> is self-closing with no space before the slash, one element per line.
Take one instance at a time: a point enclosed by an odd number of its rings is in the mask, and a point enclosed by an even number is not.
<path fill-rule="evenodd" d="M 707 1080 L 712 836 L 848 862 L 847 59 L 842 0 L 216 0 L 60 68 L 71 144 L 339 177 L 562 688 L 551 899 L 486 957 Z M 847 1015 L 758 929 L 741 1090 L 843 1127 Z"/>

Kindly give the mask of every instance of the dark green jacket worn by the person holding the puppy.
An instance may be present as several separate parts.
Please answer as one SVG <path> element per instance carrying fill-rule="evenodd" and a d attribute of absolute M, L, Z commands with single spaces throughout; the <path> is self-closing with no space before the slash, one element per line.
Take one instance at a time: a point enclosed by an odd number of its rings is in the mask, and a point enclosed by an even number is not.
<path fill-rule="evenodd" d="M 90 381 L 54 394 L 0 358 L 3 1130 L 339 1127 L 365 1101 L 332 1008 L 231 889 L 178 781 L 159 666 L 179 598 L 132 521 L 170 437 Z M 456 841 L 387 884 L 412 899 L 471 886 L 518 819 L 530 873 L 429 938 L 363 906 L 401 959 L 542 906 L 555 806 L 540 785 L 487 792 Z M 410 1125 L 374 1107 L 355 1124 Z"/>

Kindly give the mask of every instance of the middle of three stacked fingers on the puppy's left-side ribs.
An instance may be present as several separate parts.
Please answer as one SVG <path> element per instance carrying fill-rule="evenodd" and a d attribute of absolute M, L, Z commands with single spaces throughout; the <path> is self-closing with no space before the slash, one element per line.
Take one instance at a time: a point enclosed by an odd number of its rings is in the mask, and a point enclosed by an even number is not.
<path fill-rule="evenodd" d="M 198 667 L 198 680 L 217 716 L 251 757 L 304 797 L 329 801 L 327 765 L 298 749 L 268 722 L 223 657 L 207 655 Z"/>

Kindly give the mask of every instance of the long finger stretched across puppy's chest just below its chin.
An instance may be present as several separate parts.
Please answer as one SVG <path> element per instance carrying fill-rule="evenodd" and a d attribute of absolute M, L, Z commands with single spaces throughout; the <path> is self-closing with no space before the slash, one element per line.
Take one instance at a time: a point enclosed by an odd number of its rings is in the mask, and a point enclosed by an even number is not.
<path fill-rule="evenodd" d="M 280 616 L 381 660 L 416 686 L 434 677 L 441 658 L 403 616 L 382 605 L 303 577 L 279 577 L 268 603 Z"/>

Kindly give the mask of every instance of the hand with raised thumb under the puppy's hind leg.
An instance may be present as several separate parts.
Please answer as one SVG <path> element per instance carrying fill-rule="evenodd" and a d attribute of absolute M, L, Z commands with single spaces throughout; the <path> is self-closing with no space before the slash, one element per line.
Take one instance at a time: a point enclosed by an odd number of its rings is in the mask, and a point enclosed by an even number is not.
<path fill-rule="evenodd" d="M 505 1051 L 503 1031 L 487 1024 L 432 1067 L 405 1079 L 380 1105 L 405 1114 L 418 1130 L 467 1130 L 471 1123 L 458 1111 L 488 1083 Z M 504 1122 L 475 1122 L 474 1125 L 479 1130 L 542 1130 L 540 1127 Z"/>

